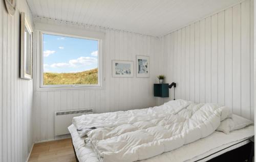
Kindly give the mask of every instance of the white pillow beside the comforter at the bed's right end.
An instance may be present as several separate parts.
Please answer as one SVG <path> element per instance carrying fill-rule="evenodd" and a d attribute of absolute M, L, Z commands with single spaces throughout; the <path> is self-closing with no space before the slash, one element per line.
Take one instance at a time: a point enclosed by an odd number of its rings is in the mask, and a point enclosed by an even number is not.
<path fill-rule="evenodd" d="M 216 129 L 216 131 L 222 131 L 226 134 L 229 134 L 229 132 L 232 130 L 241 129 L 250 124 L 253 124 L 251 120 L 248 120 L 241 116 L 233 114 L 232 118 L 227 118 L 223 120 L 219 125 L 219 127 Z"/>

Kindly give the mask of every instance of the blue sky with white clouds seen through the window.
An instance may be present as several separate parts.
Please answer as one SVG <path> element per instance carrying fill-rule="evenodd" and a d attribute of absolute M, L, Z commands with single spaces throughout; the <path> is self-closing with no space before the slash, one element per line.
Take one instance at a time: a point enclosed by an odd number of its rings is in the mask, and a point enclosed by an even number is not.
<path fill-rule="evenodd" d="M 98 41 L 43 35 L 44 72 L 80 72 L 98 67 Z"/>

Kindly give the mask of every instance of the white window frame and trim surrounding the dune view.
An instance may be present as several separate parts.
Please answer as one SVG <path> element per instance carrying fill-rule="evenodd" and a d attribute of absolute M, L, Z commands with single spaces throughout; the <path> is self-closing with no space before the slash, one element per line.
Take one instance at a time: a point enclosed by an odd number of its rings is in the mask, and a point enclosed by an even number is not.
<path fill-rule="evenodd" d="M 62 27 L 62 26 L 61 26 Z M 67 30 L 67 28 L 66 28 Z M 65 31 L 66 31 L 65 30 Z M 79 33 L 84 33 L 83 30 L 80 29 L 69 29 L 69 33 L 70 30 L 76 30 L 76 32 Z M 102 57 L 102 42 L 103 39 L 102 38 L 93 38 L 93 32 L 89 32 L 89 36 L 91 37 L 87 37 L 84 34 L 81 34 L 82 36 L 78 36 L 78 34 L 67 34 L 67 33 L 58 33 L 58 32 L 48 32 L 45 30 L 39 30 L 39 42 L 40 42 L 40 80 L 39 80 L 39 88 L 37 90 L 39 91 L 49 91 L 49 90 L 75 90 L 75 89 L 102 89 L 103 88 L 103 57 Z M 85 32 L 86 33 L 86 32 Z M 89 40 L 97 40 L 98 41 L 98 84 L 97 85 L 44 85 L 43 84 L 43 80 L 44 80 L 44 57 L 43 57 L 43 34 L 49 34 L 49 35 L 56 35 L 56 36 L 63 36 L 63 37 L 73 37 L 73 38 L 81 38 L 81 39 L 89 39 Z M 97 37 L 97 34 L 96 34 Z"/>

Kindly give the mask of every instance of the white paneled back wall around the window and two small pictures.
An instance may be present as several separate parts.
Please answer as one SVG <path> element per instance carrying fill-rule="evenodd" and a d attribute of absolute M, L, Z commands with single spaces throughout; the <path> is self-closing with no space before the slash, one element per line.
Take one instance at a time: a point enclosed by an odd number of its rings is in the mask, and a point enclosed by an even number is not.
<path fill-rule="evenodd" d="M 87 109 L 93 107 L 95 113 L 141 109 L 156 105 L 153 97 L 153 83 L 158 70 L 159 40 L 155 37 L 114 30 L 103 30 L 67 22 L 34 18 L 35 22 L 67 25 L 72 28 L 105 32 L 103 47 L 104 89 L 102 90 L 58 90 L 35 92 L 34 141 L 54 138 L 54 112 Z M 34 85 L 39 81 L 39 31 L 36 31 L 37 51 L 35 55 Z M 150 56 L 150 78 L 112 77 L 112 60 L 134 61 L 136 55 Z"/>

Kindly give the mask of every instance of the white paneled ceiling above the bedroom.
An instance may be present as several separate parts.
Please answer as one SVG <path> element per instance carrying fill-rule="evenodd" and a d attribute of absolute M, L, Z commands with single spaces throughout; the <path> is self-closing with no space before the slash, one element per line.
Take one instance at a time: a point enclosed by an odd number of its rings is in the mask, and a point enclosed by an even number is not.
<path fill-rule="evenodd" d="M 27 0 L 34 16 L 162 36 L 241 0 Z"/>

